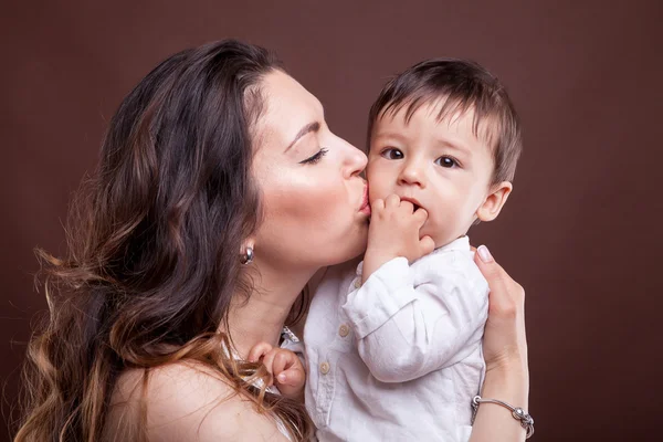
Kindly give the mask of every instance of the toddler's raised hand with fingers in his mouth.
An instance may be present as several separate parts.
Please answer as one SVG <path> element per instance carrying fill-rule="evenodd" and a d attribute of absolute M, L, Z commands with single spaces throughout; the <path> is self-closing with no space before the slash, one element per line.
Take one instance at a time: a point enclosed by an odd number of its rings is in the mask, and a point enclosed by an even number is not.
<path fill-rule="evenodd" d="M 424 209 L 417 209 L 397 194 L 385 200 L 375 200 L 370 207 L 368 248 L 364 257 L 361 282 L 386 262 L 404 256 L 408 262 L 431 253 L 435 244 L 430 236 L 419 238 L 419 230 L 428 219 Z"/>

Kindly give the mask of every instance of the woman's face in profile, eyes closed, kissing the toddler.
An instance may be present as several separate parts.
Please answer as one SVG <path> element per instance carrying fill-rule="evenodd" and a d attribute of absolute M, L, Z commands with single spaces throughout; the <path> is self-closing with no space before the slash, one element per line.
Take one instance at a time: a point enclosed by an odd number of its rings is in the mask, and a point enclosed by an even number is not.
<path fill-rule="evenodd" d="M 366 155 L 334 135 L 320 102 L 281 71 L 262 84 L 253 175 L 263 218 L 256 259 L 277 269 L 338 264 L 366 249 Z"/>

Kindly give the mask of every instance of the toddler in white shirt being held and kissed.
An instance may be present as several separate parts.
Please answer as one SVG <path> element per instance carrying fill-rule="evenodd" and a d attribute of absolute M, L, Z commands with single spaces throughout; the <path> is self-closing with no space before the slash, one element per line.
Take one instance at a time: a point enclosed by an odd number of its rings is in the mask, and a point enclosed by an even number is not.
<path fill-rule="evenodd" d="M 486 70 L 435 59 L 385 86 L 368 137 L 368 246 L 315 292 L 306 407 L 320 441 L 467 441 L 488 285 L 466 233 L 512 191 L 518 117 Z"/>

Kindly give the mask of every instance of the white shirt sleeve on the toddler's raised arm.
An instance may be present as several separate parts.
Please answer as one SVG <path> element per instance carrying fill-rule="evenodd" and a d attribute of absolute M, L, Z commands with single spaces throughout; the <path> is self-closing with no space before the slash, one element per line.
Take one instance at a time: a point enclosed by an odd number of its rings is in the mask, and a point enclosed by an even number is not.
<path fill-rule="evenodd" d="M 488 286 L 478 269 L 451 253 L 424 259 L 417 275 L 404 257 L 387 262 L 343 307 L 361 359 L 382 382 L 449 367 L 481 343 Z"/>

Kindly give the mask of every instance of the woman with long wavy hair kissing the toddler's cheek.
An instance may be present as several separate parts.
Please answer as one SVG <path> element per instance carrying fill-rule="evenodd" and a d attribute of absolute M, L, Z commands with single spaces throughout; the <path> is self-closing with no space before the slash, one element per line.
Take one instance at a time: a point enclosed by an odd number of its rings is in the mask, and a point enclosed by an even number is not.
<path fill-rule="evenodd" d="M 362 252 L 365 166 L 267 51 L 222 41 L 161 63 L 110 122 L 69 255 L 42 252 L 51 315 L 15 440 L 308 438 L 304 407 L 245 359 L 301 323 L 319 269 Z M 526 407 L 524 293 L 478 263 L 493 288 L 484 396 Z M 473 441 L 524 435 L 480 408 Z"/>

